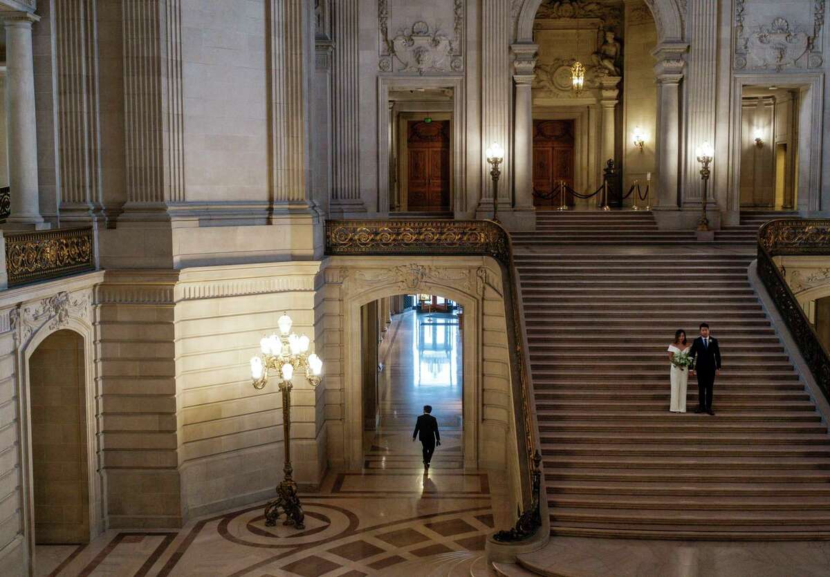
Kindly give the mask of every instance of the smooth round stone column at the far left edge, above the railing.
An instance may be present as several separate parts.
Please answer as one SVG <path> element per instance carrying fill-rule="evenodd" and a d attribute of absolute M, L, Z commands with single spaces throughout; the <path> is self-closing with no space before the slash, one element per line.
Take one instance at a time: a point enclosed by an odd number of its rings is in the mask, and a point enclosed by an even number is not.
<path fill-rule="evenodd" d="M 6 29 L 6 113 L 12 225 L 49 228 L 41 218 L 37 190 L 37 124 L 32 61 L 32 22 L 29 12 L 0 12 Z"/>

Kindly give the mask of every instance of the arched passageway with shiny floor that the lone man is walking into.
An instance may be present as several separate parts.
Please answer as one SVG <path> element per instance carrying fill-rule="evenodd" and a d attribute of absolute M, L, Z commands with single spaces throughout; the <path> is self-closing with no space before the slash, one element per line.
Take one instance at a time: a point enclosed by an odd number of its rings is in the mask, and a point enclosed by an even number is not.
<path fill-rule="evenodd" d="M 432 294 L 400 294 L 361 308 L 364 468 L 422 468 L 411 441 L 429 405 L 442 447 L 433 468 L 463 468 L 463 308 Z"/>

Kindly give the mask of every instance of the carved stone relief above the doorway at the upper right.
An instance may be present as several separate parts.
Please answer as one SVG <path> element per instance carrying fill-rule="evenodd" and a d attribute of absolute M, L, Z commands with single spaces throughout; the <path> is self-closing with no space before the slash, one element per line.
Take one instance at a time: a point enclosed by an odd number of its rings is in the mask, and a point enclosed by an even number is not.
<path fill-rule="evenodd" d="M 774 17 L 769 23 L 748 27 L 746 2 L 735 1 L 736 70 L 780 72 L 820 68 L 823 65 L 824 0 L 813 2 L 812 30 L 783 16 Z"/>

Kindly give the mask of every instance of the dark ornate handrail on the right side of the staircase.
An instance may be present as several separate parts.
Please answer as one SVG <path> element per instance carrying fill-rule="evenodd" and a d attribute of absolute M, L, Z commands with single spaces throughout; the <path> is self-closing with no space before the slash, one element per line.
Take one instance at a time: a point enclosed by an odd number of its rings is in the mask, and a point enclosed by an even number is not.
<path fill-rule="evenodd" d="M 758 231 L 758 275 L 789 328 L 825 399 L 830 400 L 830 355 L 823 347 L 774 256 L 830 256 L 830 220 L 778 219 Z"/>

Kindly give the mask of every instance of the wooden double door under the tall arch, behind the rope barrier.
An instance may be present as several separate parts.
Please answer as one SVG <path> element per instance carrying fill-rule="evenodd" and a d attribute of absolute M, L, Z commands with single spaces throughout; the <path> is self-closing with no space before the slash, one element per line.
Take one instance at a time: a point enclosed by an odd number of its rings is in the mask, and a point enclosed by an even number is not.
<path fill-rule="evenodd" d="M 533 204 L 537 208 L 560 206 L 554 190 L 559 182 L 574 187 L 574 121 L 533 121 Z M 568 206 L 574 195 L 565 194 Z"/>

